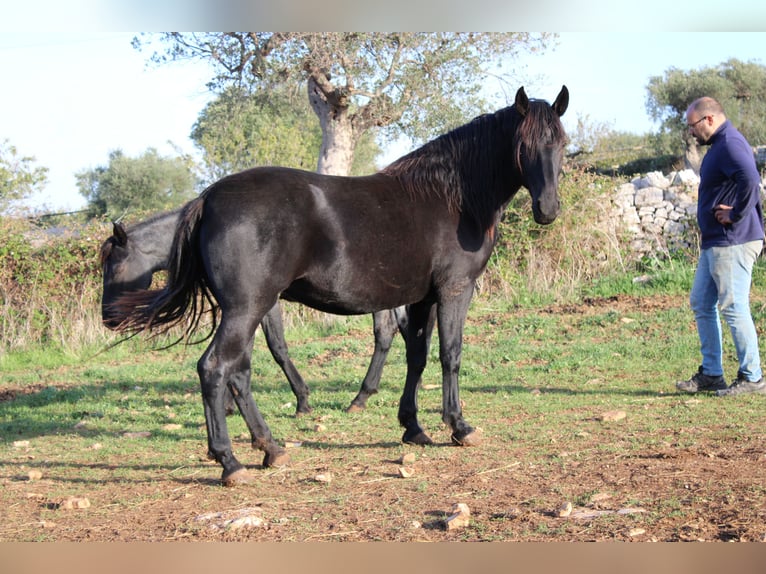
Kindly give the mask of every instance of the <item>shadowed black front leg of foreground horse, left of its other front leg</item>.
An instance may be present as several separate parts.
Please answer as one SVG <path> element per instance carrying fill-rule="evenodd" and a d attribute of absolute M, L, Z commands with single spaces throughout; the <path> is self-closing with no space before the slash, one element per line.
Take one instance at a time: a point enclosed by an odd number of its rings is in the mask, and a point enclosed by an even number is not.
<path fill-rule="evenodd" d="M 399 400 L 399 423 L 404 427 L 402 442 L 433 444 L 418 423 L 418 389 L 428 359 L 428 317 L 433 303 L 410 305 L 407 330 L 407 378 Z"/>

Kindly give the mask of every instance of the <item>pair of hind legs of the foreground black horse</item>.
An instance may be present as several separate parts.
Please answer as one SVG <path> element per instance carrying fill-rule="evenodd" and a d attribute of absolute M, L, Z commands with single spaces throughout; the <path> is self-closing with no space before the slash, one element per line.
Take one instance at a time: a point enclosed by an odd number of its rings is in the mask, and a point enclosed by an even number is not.
<path fill-rule="evenodd" d="M 250 429 L 253 446 L 266 453 L 263 464 L 273 466 L 287 462 L 285 450 L 271 436 L 250 391 L 250 357 L 256 325 L 257 321 L 250 319 L 229 321 L 224 315 L 213 341 L 197 363 L 208 450 L 223 466 L 221 480 L 226 486 L 251 480 L 232 452 L 224 406 L 224 391 L 227 387 L 231 389 L 237 407 Z"/>

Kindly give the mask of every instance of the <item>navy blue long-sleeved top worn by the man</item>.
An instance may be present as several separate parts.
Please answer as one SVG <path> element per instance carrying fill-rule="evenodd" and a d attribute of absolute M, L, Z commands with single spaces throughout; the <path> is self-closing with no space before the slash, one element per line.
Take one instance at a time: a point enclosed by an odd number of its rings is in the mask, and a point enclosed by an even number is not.
<path fill-rule="evenodd" d="M 702 249 L 741 245 L 764 238 L 760 176 L 753 149 L 745 137 L 726 120 L 709 141 L 710 149 L 700 167 L 697 223 Z M 731 225 L 721 225 L 713 208 L 731 205 Z"/>

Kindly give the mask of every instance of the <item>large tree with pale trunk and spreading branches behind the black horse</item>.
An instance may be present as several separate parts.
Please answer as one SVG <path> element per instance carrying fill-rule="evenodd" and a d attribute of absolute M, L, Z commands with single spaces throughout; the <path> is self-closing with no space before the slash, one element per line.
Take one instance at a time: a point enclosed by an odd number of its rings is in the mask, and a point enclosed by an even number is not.
<path fill-rule="evenodd" d="M 319 119 L 317 170 L 346 175 L 372 128 L 424 140 L 487 111 L 491 67 L 521 50 L 540 50 L 530 33 L 165 33 L 152 59 L 211 62 L 216 90 L 302 84 Z M 135 45 L 141 47 L 141 40 Z"/>

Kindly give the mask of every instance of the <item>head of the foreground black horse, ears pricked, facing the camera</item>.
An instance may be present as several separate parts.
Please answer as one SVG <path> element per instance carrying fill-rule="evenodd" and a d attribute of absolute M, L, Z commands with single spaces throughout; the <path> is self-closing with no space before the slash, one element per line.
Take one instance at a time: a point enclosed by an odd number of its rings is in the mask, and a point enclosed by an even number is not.
<path fill-rule="evenodd" d="M 532 195 L 532 212 L 537 223 L 552 223 L 559 214 L 558 185 L 564 162 L 566 134 L 560 117 L 569 105 L 569 90 L 562 86 L 553 105 L 530 101 L 524 88 L 516 92 L 516 111 L 521 124 L 516 131 L 516 165 L 522 184 Z"/>

